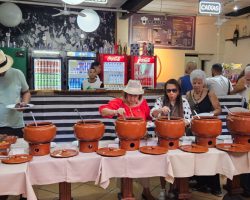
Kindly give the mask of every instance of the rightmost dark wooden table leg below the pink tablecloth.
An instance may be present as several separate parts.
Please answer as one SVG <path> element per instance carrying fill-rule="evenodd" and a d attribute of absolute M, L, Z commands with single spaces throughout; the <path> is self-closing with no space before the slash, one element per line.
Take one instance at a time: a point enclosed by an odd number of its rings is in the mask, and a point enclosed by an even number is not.
<path fill-rule="evenodd" d="M 223 200 L 243 199 L 240 196 L 243 193 L 243 189 L 240 186 L 240 175 L 234 176 L 233 180 L 227 179 L 226 190 L 227 194 L 223 197 Z"/>

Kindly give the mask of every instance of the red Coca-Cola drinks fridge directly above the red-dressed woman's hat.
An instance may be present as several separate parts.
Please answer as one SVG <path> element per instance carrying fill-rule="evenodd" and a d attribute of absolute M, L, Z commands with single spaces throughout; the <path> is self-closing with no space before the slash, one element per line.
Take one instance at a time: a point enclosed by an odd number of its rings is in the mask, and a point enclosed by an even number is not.
<path fill-rule="evenodd" d="M 156 56 L 131 56 L 130 78 L 140 80 L 144 88 L 155 88 L 156 63 Z"/>

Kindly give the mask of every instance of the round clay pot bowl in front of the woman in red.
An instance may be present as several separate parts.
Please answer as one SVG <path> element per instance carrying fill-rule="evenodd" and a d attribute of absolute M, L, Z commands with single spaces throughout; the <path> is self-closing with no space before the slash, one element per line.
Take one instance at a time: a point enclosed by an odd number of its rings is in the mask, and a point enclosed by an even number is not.
<path fill-rule="evenodd" d="M 147 132 L 147 123 L 142 118 L 118 118 L 115 122 L 117 136 L 124 140 L 140 140 Z"/>

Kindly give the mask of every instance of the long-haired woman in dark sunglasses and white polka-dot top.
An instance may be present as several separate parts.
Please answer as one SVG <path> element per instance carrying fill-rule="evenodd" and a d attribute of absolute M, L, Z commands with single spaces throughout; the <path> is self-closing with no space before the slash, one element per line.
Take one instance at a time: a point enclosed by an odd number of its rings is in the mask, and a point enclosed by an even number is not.
<path fill-rule="evenodd" d="M 187 99 L 181 96 L 181 87 L 177 80 L 170 79 L 164 85 L 164 95 L 156 99 L 154 107 L 150 111 L 150 115 L 153 119 L 165 116 L 170 113 L 173 117 L 182 117 L 185 120 L 186 126 L 190 124 L 191 110 Z M 164 177 L 160 177 L 161 192 L 159 199 L 165 199 L 166 196 L 166 181 Z M 170 186 L 170 193 L 172 193 L 173 187 Z"/>

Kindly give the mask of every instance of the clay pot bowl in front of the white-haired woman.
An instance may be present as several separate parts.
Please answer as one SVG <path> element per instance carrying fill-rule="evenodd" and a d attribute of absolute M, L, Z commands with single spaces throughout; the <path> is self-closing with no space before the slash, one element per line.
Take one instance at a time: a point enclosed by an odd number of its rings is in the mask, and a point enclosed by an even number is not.
<path fill-rule="evenodd" d="M 217 117 L 194 117 L 191 122 L 191 130 L 198 137 L 217 137 L 222 132 L 222 122 Z"/>

